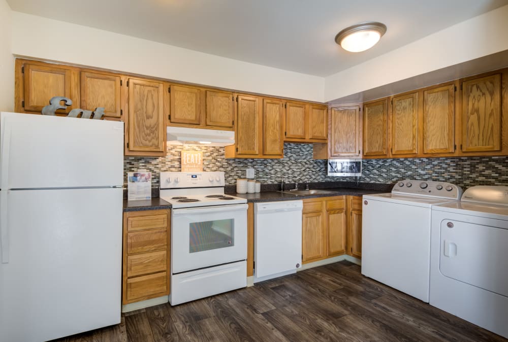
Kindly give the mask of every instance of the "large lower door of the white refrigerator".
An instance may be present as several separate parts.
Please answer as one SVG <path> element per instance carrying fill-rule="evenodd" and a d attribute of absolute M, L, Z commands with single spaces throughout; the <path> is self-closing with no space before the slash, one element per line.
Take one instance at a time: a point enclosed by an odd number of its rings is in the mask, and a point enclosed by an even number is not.
<path fill-rule="evenodd" d="M 0 341 L 120 322 L 122 189 L 9 190 L 0 204 L 9 245 L 9 262 L 0 263 Z"/>

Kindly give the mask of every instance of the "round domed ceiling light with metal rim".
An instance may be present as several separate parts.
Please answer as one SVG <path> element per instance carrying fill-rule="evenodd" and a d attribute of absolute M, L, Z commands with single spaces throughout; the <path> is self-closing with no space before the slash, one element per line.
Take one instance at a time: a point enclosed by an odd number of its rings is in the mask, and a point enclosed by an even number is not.
<path fill-rule="evenodd" d="M 335 42 L 344 50 L 360 52 L 373 47 L 385 32 L 385 24 L 374 21 L 363 22 L 344 28 L 335 36 Z"/>

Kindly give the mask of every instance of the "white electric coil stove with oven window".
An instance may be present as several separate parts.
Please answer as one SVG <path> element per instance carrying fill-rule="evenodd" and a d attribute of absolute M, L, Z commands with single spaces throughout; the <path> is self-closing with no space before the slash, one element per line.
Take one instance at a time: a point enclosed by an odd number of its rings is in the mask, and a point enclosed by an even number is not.
<path fill-rule="evenodd" d="M 247 200 L 224 172 L 162 172 L 171 203 L 171 305 L 247 286 Z"/>

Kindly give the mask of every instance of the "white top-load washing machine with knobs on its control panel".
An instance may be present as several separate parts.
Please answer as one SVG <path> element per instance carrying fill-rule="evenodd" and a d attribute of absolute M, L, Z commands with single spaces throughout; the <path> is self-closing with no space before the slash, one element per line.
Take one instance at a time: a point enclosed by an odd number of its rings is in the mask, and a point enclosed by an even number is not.
<path fill-rule="evenodd" d="M 362 274 L 428 302 L 431 208 L 461 195 L 454 184 L 418 180 L 364 195 Z"/>

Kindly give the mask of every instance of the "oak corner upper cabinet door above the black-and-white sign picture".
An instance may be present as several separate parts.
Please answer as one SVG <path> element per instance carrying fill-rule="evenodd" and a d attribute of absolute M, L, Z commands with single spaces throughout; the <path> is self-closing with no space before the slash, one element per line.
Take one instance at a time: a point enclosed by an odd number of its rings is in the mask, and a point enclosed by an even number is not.
<path fill-rule="evenodd" d="M 360 107 L 332 108 L 330 156 L 360 155 Z"/>

